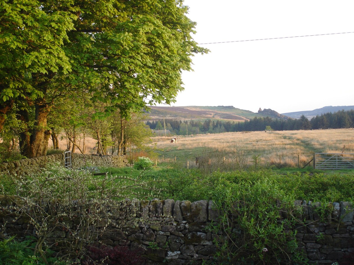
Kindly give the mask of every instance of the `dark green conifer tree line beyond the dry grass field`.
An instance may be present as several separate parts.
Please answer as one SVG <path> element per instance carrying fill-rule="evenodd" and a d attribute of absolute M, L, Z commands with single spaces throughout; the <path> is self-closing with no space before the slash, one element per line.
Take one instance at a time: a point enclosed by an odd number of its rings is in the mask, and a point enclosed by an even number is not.
<path fill-rule="evenodd" d="M 164 130 L 164 121 L 147 121 L 146 125 L 152 130 Z M 354 126 L 354 110 L 329 112 L 317 115 L 310 120 L 302 115 L 299 119 L 274 119 L 270 117 L 254 117 L 245 122 L 231 122 L 223 120 L 178 120 L 165 119 L 166 130 L 172 134 L 188 135 L 205 133 L 224 133 L 237 131 L 262 131 L 265 128 L 273 130 L 314 130 L 314 129 L 337 129 L 352 128 Z M 187 128 L 188 126 L 188 128 Z"/>

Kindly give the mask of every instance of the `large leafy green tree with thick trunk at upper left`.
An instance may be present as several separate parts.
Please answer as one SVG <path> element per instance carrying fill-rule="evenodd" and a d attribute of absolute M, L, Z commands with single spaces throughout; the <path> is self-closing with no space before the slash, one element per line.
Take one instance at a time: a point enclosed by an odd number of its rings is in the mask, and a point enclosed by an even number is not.
<path fill-rule="evenodd" d="M 182 0 L 0 0 L 0 131 L 16 106 L 27 157 L 43 155 L 49 113 L 104 104 L 93 119 L 174 102 L 205 53 Z M 11 116 L 12 117 L 12 116 Z"/>

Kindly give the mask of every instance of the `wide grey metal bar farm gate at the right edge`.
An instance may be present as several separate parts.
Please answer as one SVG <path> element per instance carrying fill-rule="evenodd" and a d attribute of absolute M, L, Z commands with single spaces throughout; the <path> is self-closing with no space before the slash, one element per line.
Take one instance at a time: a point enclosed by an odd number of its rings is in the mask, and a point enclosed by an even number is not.
<path fill-rule="evenodd" d="M 315 169 L 354 169 L 354 154 L 316 153 Z"/>

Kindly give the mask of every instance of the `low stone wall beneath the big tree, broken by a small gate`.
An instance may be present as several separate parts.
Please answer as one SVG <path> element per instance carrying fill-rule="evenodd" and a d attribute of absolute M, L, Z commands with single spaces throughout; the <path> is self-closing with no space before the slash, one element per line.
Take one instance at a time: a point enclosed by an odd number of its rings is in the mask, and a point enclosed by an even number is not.
<path fill-rule="evenodd" d="M 11 175 L 31 175 L 37 173 L 47 163 L 53 161 L 58 161 L 64 166 L 64 154 L 52 154 L 42 157 L 21 159 L 9 163 L 0 163 L 0 175 L 6 175 L 9 173 Z M 98 155 L 72 153 L 72 167 L 74 169 L 79 169 L 80 167 L 87 165 L 124 167 L 128 165 L 128 160 L 120 155 L 104 155 L 100 157 Z"/>

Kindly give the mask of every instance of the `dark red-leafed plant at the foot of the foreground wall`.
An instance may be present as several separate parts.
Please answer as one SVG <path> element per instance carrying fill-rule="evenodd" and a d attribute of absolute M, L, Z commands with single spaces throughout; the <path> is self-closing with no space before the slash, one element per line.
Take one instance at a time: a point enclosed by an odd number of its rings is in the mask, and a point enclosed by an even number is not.
<path fill-rule="evenodd" d="M 88 253 L 81 260 L 83 265 L 140 265 L 144 258 L 142 249 L 131 250 L 127 246 L 88 246 Z"/>

